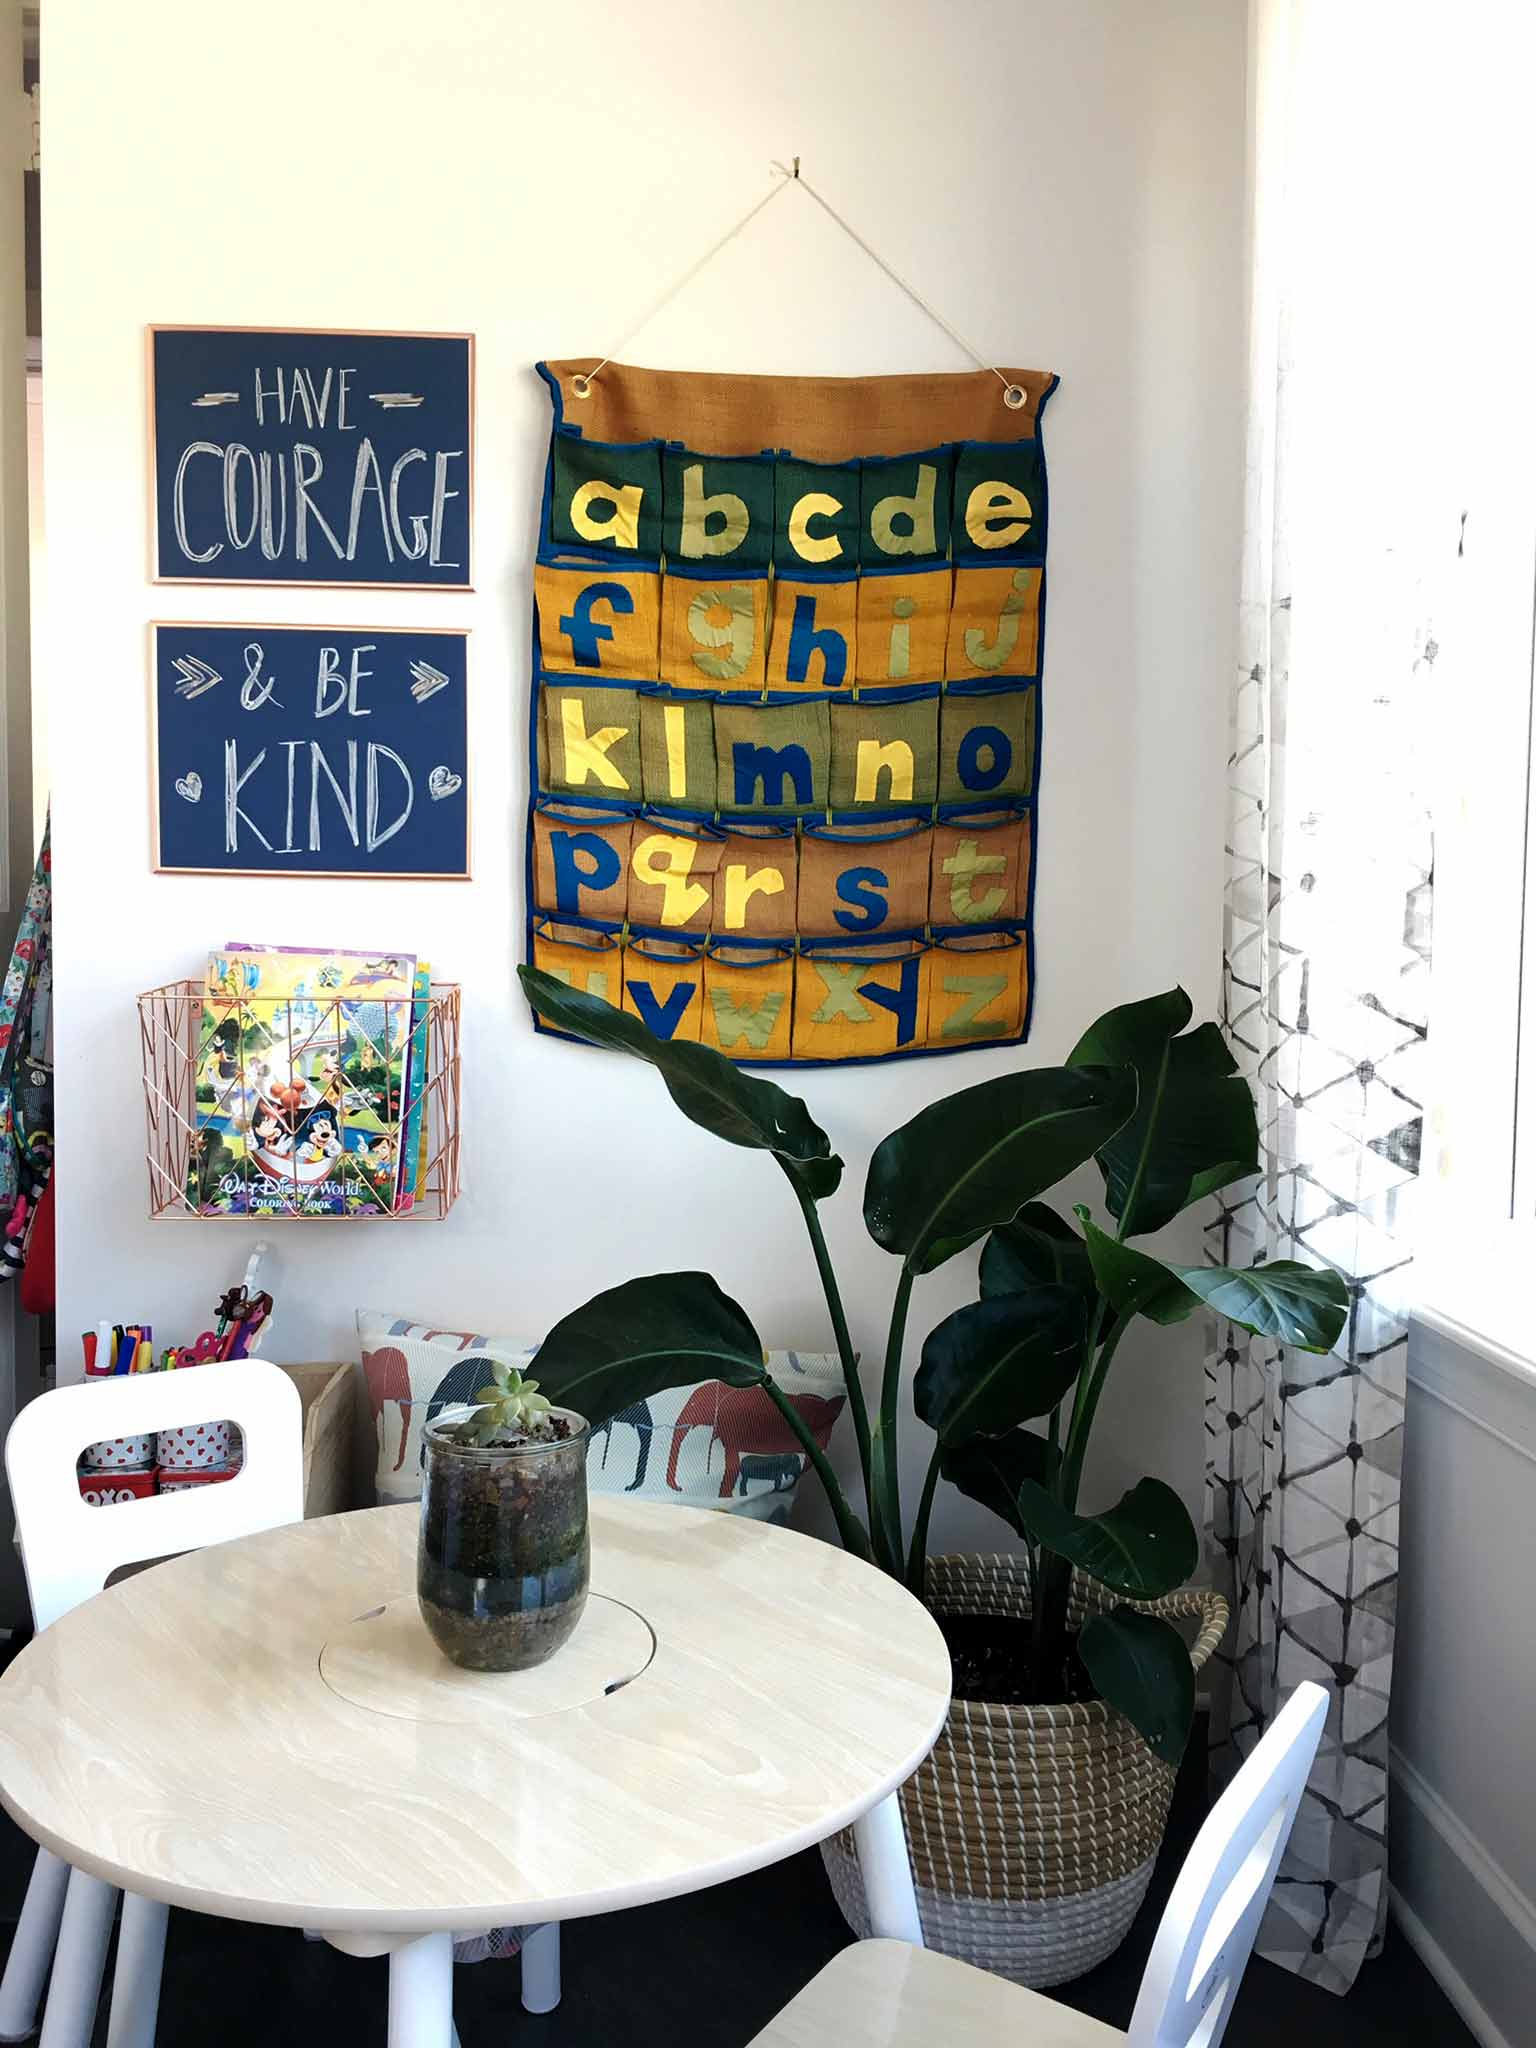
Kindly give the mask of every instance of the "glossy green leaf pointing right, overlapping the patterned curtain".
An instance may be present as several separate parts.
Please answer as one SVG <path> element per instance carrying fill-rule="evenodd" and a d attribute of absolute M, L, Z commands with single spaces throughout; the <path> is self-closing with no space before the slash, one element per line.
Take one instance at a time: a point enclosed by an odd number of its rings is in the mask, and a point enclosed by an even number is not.
<path fill-rule="evenodd" d="M 1087 1212 L 1083 1237 L 1110 1307 L 1153 1323 L 1182 1323 L 1200 1303 L 1239 1329 L 1278 1337 L 1298 1352 L 1331 1352 L 1350 1319 L 1350 1286 L 1329 1266 L 1272 1260 L 1268 1266 L 1171 1266 L 1106 1237 Z"/>

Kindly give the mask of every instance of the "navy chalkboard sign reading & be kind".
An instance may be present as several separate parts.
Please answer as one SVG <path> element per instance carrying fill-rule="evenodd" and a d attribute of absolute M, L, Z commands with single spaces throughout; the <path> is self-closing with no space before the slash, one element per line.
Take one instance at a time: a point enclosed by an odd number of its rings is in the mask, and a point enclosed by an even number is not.
<path fill-rule="evenodd" d="M 469 874 L 465 635 L 158 625 L 156 866 Z"/>

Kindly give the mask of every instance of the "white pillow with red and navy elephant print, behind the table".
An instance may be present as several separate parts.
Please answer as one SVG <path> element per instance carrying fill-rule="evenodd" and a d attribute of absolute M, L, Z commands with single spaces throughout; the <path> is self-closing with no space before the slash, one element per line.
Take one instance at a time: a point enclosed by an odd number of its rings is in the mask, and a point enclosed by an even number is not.
<path fill-rule="evenodd" d="M 434 1329 L 358 1309 L 362 1374 L 379 1446 L 375 1499 L 414 1501 L 422 1491 L 422 1423 L 485 1384 L 487 1362 L 526 1368 L 537 1352 L 512 1337 Z M 768 1370 L 825 1450 L 844 1405 L 842 1366 L 815 1352 L 770 1352 Z M 725 1507 L 786 1522 L 807 1466 L 799 1440 L 758 1386 L 672 1386 L 637 1401 L 592 1438 L 594 1493 Z"/>

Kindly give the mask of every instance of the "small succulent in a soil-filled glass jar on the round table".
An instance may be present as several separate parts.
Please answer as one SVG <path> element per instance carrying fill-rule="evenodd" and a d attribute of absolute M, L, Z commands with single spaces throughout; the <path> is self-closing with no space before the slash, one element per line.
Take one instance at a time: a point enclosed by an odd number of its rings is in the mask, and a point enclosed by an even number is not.
<path fill-rule="evenodd" d="M 586 1419 L 498 1360 L 475 1407 L 422 1438 L 416 1597 L 432 1640 L 469 1671 L 545 1663 L 586 1606 Z"/>

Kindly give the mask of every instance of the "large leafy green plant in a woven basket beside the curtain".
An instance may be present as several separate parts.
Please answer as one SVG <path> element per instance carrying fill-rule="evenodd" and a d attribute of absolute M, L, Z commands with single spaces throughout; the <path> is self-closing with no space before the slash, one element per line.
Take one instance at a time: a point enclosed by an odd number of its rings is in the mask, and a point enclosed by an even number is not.
<path fill-rule="evenodd" d="M 864 1225 L 901 1264 L 870 1405 L 817 1214 L 842 1161 L 805 1104 L 705 1044 L 655 1038 L 537 969 L 520 975 L 545 1022 L 647 1061 L 686 1116 L 766 1151 L 786 1176 L 848 1380 L 864 1516 L 766 1372 L 748 1315 L 709 1274 L 651 1274 L 594 1296 L 551 1329 L 541 1378 L 598 1421 L 702 1370 L 768 1393 L 844 1544 L 924 1597 L 950 1642 L 950 1720 L 901 1792 L 930 1946 L 1030 1985 L 1079 1974 L 1120 1942 L 1145 1894 L 1194 1673 L 1227 1620 L 1217 1593 L 1184 1589 L 1200 1546 L 1171 1487 L 1141 1479 L 1112 1507 L 1079 1509 L 1114 1358 L 1137 1317 L 1178 1323 L 1206 1305 L 1327 1352 L 1348 1313 L 1335 1272 L 1176 1266 L 1130 1243 L 1257 1171 L 1253 1100 L 1221 1032 L 1188 1028 L 1182 989 L 1126 1004 L 1065 1065 L 958 1090 L 874 1149 Z M 1042 1196 L 1090 1159 L 1106 1221 L 1077 1204 L 1073 1223 Z M 928 1333 L 911 1382 L 932 1448 L 907 1524 L 897 1446 L 911 1298 L 975 1243 L 979 1298 Z M 940 1481 L 995 1509 L 1022 1548 L 930 1559 Z M 852 1841 L 823 1853 L 866 1931 Z"/>

